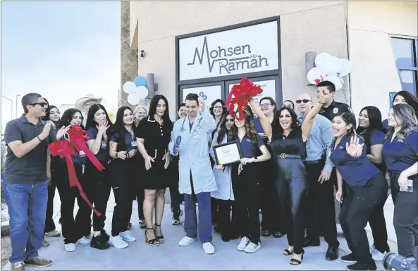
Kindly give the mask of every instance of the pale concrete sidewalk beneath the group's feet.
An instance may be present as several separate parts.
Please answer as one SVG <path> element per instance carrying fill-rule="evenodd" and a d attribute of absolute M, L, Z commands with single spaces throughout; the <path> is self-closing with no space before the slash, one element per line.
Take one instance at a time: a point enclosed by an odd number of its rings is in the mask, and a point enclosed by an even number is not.
<path fill-rule="evenodd" d="M 169 194 L 167 191 L 167 202 Z M 58 220 L 60 217 L 59 195 L 56 193 L 54 200 L 54 220 L 57 229 L 61 230 Z M 109 199 L 106 212 L 106 231 L 111 232 L 111 219 L 115 206 L 113 193 Z M 183 206 L 181 206 L 183 208 Z M 40 249 L 39 254 L 44 258 L 53 260 L 53 265 L 42 270 L 345 270 L 346 263 L 339 259 L 325 260 L 325 252 L 328 245 L 321 239 L 320 247 L 305 248 L 305 256 L 301 265 L 290 265 L 290 256 L 283 256 L 283 249 L 287 248 L 287 239 L 282 237 L 262 237 L 262 248 L 256 253 L 249 254 L 237 251 L 237 241 L 225 243 L 219 234 L 214 232 L 213 244 L 216 248 L 214 255 L 204 253 L 199 241 L 189 246 L 180 247 L 178 241 L 184 236 L 183 227 L 171 225 L 171 210 L 166 204 L 162 230 L 165 237 L 164 244 L 157 247 L 145 243 L 144 229 L 140 229 L 137 218 L 137 202 L 134 201 L 131 232 L 137 241 L 130 243 L 128 248 L 109 248 L 99 251 L 90 248 L 90 245 L 77 244 L 76 251 L 66 252 L 63 247 L 62 237 L 47 237 L 51 244 Z M 76 213 L 76 210 L 74 211 Z M 386 222 L 391 251 L 396 252 L 396 239 L 393 230 L 393 203 L 388 199 L 385 206 Z M 184 217 L 184 215 L 183 215 Z M 181 218 L 183 222 L 183 217 Z M 339 225 L 338 225 L 339 226 Z M 368 229 L 369 230 L 369 229 Z M 348 251 L 347 244 L 341 229 L 339 231 L 340 256 Z M 371 233 L 369 241 L 371 241 Z M 381 262 L 376 263 L 379 270 L 384 270 Z M 4 270 L 10 270 L 10 263 L 4 266 Z M 26 270 L 39 270 L 36 267 L 25 267 Z"/>

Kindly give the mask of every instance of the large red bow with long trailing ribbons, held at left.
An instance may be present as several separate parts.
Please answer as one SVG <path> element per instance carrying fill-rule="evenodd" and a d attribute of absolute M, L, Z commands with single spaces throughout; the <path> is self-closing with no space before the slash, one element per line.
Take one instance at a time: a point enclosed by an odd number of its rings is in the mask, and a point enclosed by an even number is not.
<path fill-rule="evenodd" d="M 73 125 L 70 127 L 70 130 L 67 132 L 68 138 L 61 141 L 55 141 L 48 145 L 53 156 L 59 156 L 61 158 L 66 158 L 67 168 L 68 168 L 68 178 L 70 179 L 70 187 L 77 187 L 80 191 L 80 195 L 85 200 L 85 202 L 92 208 L 94 213 L 97 216 L 102 215 L 99 213 L 92 205 L 92 203 L 87 198 L 86 194 L 82 190 L 80 182 L 78 182 L 77 175 L 75 174 L 75 168 L 71 156 L 77 155 L 78 152 L 84 151 L 87 158 L 92 161 L 93 165 L 100 171 L 104 170 L 102 163 L 97 160 L 96 156 L 90 151 L 85 143 L 85 139 L 90 139 L 87 136 L 87 132 L 82 130 L 80 126 Z"/>

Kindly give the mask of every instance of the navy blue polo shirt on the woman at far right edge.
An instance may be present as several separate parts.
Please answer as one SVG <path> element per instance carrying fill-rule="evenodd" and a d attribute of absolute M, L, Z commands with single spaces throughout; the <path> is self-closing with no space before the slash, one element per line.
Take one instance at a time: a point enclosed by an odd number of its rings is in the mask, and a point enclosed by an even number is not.
<path fill-rule="evenodd" d="M 392 140 L 392 134 L 383 143 L 383 159 L 389 172 L 402 172 L 418 161 L 418 132 L 412 130 L 405 139 L 398 134 Z"/>

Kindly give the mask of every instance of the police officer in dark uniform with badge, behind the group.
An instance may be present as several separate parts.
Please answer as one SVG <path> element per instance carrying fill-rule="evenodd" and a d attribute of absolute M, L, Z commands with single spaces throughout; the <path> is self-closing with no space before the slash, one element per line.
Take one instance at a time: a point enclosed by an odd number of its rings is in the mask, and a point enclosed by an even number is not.
<path fill-rule="evenodd" d="M 321 111 L 319 111 L 320 115 L 323 115 L 325 118 L 328 118 L 328 120 L 332 120 L 335 115 L 341 112 L 347 112 L 350 113 L 354 117 L 354 123 L 353 127 L 357 127 L 355 123 L 355 115 L 352 112 L 352 109 L 350 106 L 348 106 L 347 103 L 340 103 L 338 101 L 334 101 L 334 94 L 336 93 L 336 85 L 333 84 L 333 82 L 329 81 L 323 81 L 316 85 L 318 89 L 316 90 L 316 93 L 325 91 L 329 92 L 331 95 L 327 95 L 328 101 L 322 106 Z"/>

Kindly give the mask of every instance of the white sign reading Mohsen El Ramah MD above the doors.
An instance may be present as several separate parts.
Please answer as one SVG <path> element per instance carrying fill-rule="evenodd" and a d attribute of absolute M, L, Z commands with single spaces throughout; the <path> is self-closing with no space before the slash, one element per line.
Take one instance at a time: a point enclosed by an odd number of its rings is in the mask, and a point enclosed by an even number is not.
<path fill-rule="evenodd" d="M 278 69 L 277 21 L 178 41 L 180 81 Z"/>

